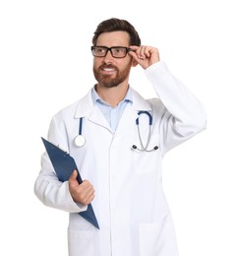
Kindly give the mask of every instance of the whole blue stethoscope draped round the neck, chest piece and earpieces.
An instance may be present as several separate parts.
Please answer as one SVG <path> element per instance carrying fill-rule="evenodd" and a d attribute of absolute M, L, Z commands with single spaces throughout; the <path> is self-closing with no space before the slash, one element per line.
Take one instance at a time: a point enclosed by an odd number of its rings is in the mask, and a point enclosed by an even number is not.
<path fill-rule="evenodd" d="M 148 141 L 146 143 L 146 145 L 144 145 L 142 137 L 141 137 L 141 133 L 140 133 L 140 115 L 141 114 L 147 114 L 149 116 L 149 136 L 148 136 Z M 141 149 L 139 149 L 136 145 L 132 146 L 133 150 L 136 151 L 144 151 L 144 152 L 152 152 L 152 151 L 156 151 L 158 150 L 158 146 L 154 146 L 153 149 L 149 150 L 149 144 L 150 144 L 150 132 L 151 132 L 151 125 L 152 125 L 152 116 L 150 114 L 149 111 L 145 111 L 145 110 L 141 110 L 138 112 L 139 117 L 136 119 L 136 125 L 138 127 L 138 135 L 139 135 L 139 140 L 140 140 L 140 145 L 141 145 Z M 79 135 L 75 137 L 74 139 L 74 143 L 76 145 L 76 147 L 81 148 L 86 144 L 86 139 L 85 137 L 82 135 L 82 130 L 83 130 L 83 117 L 80 118 L 80 123 L 79 123 Z"/>

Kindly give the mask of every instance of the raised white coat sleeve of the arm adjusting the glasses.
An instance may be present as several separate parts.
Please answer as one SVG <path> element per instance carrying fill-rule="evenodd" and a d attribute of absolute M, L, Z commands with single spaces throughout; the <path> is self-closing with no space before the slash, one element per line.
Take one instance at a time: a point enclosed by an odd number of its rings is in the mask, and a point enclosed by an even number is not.
<path fill-rule="evenodd" d="M 151 65 L 146 75 L 160 99 L 159 134 L 164 154 L 204 130 L 207 114 L 200 100 L 171 74 L 163 61 Z"/>

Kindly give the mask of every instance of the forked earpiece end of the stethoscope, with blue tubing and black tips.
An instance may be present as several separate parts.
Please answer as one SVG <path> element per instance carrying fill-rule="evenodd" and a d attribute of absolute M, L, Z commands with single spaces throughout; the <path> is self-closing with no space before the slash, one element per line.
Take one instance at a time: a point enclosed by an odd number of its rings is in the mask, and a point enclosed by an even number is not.
<path fill-rule="evenodd" d="M 144 145 L 143 143 L 143 140 L 142 140 L 142 137 L 141 137 L 141 133 L 140 133 L 140 121 L 139 121 L 139 118 L 140 118 L 140 115 L 141 114 L 147 114 L 149 116 L 149 125 L 150 125 L 150 128 L 149 128 L 149 136 L 148 136 L 148 141 L 146 143 L 146 145 Z M 152 152 L 152 151 L 156 151 L 158 150 L 158 146 L 154 146 L 153 149 L 151 150 L 148 150 L 149 148 L 149 144 L 150 144 L 150 132 L 151 132 L 151 125 L 152 125 L 152 115 L 150 114 L 149 111 L 145 111 L 145 110 L 141 110 L 138 112 L 138 115 L 139 117 L 136 119 L 136 125 L 138 127 L 138 135 L 139 135 L 139 140 L 140 140 L 140 145 L 141 145 L 141 149 L 139 149 L 136 145 L 133 145 L 132 146 L 132 149 L 133 150 L 137 150 L 137 151 L 144 151 L 144 152 Z"/>

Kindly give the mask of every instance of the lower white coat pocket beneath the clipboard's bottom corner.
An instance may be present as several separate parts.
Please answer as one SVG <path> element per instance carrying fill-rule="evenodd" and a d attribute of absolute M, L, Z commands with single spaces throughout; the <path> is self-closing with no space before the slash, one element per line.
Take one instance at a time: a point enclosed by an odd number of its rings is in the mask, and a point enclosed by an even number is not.
<path fill-rule="evenodd" d="M 68 229 L 68 247 L 70 256 L 92 256 L 93 239 L 89 230 L 79 231 Z"/>

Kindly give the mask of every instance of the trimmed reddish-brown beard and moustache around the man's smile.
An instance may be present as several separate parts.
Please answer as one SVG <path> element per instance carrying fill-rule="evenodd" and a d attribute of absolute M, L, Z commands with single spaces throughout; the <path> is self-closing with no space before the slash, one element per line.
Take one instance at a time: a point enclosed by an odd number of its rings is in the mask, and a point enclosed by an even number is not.
<path fill-rule="evenodd" d="M 114 69 L 115 74 L 102 74 L 101 70 L 104 68 Z M 99 86 L 105 88 L 113 88 L 117 87 L 128 78 L 130 69 L 131 66 L 129 65 L 123 71 L 119 71 L 119 69 L 116 66 L 103 64 L 98 68 L 93 67 L 93 74 Z"/>

